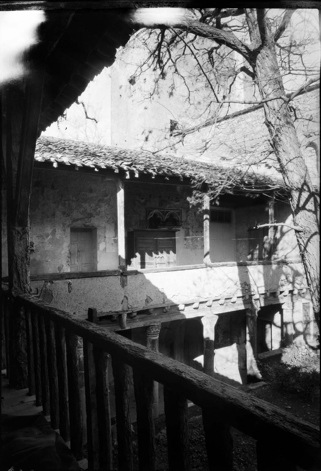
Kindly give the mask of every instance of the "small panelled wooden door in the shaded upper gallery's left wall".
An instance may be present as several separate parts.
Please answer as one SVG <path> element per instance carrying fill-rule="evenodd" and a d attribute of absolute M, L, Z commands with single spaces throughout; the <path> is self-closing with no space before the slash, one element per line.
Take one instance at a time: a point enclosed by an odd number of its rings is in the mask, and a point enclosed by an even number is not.
<path fill-rule="evenodd" d="M 70 229 L 70 271 L 97 270 L 95 229 Z"/>

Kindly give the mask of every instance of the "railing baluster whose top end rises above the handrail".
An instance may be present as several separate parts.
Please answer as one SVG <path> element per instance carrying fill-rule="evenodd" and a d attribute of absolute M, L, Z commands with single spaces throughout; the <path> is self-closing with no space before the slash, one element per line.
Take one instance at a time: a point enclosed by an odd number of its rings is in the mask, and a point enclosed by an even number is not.
<path fill-rule="evenodd" d="M 88 309 L 88 320 L 97 323 L 96 309 Z M 83 339 L 83 369 L 85 379 L 88 470 L 99 470 L 99 435 L 97 422 L 96 372 L 93 345 Z"/>

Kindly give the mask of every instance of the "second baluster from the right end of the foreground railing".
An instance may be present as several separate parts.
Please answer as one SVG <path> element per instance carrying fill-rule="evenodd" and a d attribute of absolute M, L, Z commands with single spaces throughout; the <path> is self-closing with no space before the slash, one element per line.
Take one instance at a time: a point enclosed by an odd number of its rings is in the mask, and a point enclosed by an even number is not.
<path fill-rule="evenodd" d="M 210 408 L 202 409 L 202 415 L 210 471 L 232 471 L 233 440 L 229 425 L 220 422 Z"/>

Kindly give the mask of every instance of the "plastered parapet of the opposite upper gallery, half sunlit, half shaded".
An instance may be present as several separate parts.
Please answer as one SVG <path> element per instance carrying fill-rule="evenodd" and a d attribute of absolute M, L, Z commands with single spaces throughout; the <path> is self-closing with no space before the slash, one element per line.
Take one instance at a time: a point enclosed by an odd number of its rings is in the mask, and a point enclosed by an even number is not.
<path fill-rule="evenodd" d="M 33 281 L 33 292 L 41 293 L 44 281 Z M 71 284 L 68 290 L 68 284 Z M 60 309 L 87 317 L 89 307 L 108 312 L 129 308 L 146 309 L 153 304 L 187 303 L 197 298 L 242 296 L 249 292 L 272 292 L 305 287 L 302 265 L 251 265 L 195 268 L 127 276 L 122 287 L 119 276 L 49 281 L 51 302 Z"/>

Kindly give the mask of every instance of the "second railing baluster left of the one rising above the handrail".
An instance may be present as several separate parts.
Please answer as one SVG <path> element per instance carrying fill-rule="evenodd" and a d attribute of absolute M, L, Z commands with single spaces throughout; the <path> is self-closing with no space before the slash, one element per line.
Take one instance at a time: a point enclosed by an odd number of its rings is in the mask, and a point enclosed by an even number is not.
<path fill-rule="evenodd" d="M 65 441 L 70 438 L 69 410 L 68 410 L 68 383 L 65 329 L 55 325 L 55 340 L 57 353 L 57 374 L 59 391 L 59 433 Z"/>

